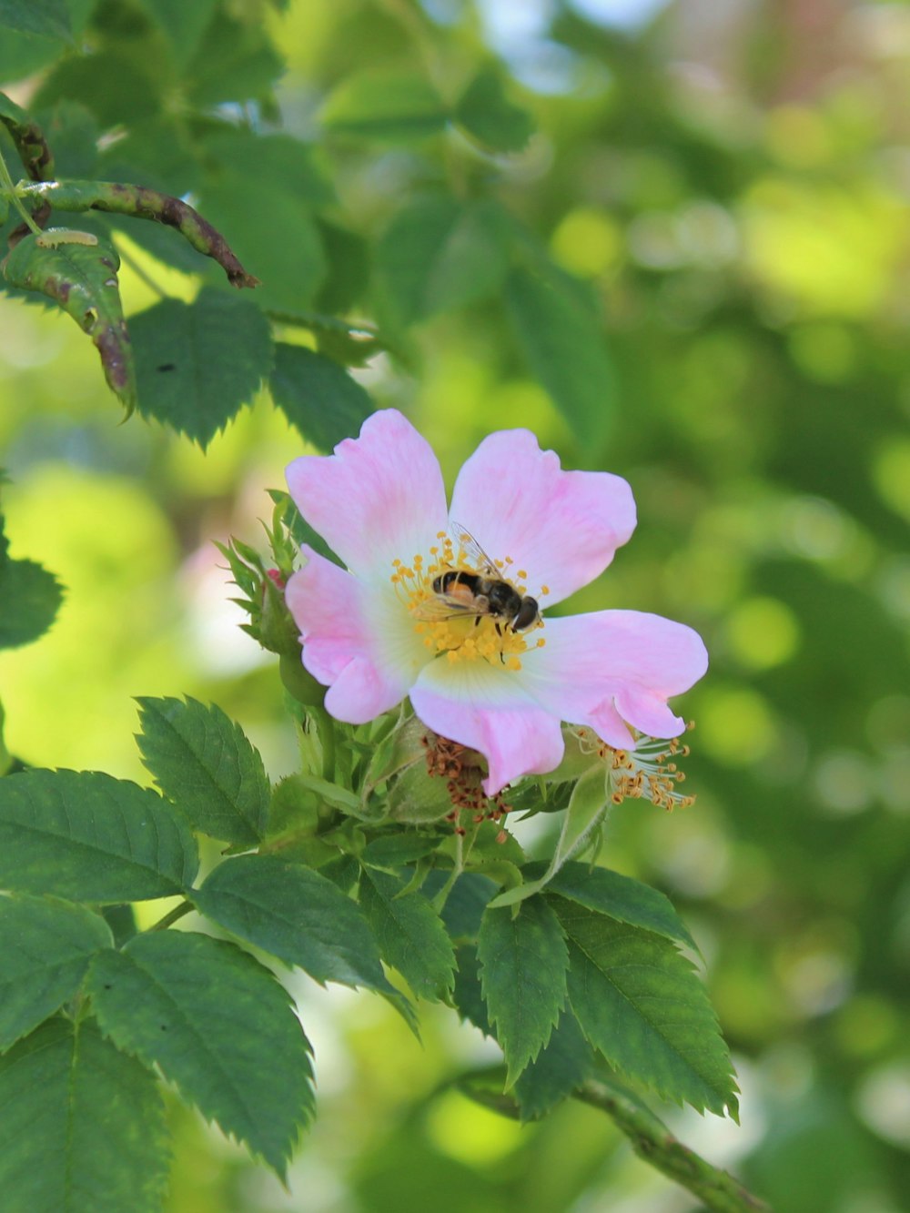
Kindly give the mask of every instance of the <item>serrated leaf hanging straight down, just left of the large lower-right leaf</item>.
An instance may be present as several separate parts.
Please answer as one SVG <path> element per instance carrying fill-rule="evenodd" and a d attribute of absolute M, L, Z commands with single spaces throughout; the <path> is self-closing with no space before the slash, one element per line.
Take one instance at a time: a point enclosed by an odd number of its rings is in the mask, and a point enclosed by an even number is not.
<path fill-rule="evenodd" d="M 540 1053 L 565 1004 L 565 938 L 542 898 L 484 912 L 477 939 L 480 983 L 512 1086 Z"/>

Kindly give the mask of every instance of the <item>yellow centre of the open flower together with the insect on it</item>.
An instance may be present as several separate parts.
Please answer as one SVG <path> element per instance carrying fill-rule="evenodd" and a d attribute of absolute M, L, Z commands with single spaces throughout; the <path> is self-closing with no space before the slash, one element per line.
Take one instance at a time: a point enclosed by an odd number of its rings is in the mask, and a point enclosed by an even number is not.
<path fill-rule="evenodd" d="M 414 619 L 414 630 L 436 656 L 447 661 L 487 661 L 521 670 L 521 655 L 542 648 L 544 638 L 530 640 L 530 632 L 544 626 L 527 598 L 528 574 L 505 557 L 479 566 L 463 543 L 445 531 L 430 548 L 430 558 L 417 554 L 409 563 L 393 560 L 392 585 Z M 467 539 L 467 536 L 466 536 Z M 541 586 L 540 594 L 548 593 Z M 530 602 L 530 606 L 523 604 Z M 521 630 L 516 622 L 530 616 L 533 623 Z"/>

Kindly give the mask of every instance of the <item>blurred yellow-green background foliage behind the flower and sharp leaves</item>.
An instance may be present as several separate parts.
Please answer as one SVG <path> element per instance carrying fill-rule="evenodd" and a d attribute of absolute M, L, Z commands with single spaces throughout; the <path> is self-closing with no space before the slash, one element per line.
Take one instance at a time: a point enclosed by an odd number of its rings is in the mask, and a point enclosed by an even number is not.
<path fill-rule="evenodd" d="M 778 1213 L 910 1209 L 910 7 L 227 8 L 286 64 L 263 120 L 319 144 L 336 215 L 368 244 L 428 186 L 457 188 L 457 136 L 341 139 L 320 125 L 325 98 L 364 68 L 443 86 L 465 64 L 505 64 L 536 133 L 489 155 L 482 176 L 596 295 L 615 368 L 610 435 L 598 449 L 575 438 L 490 302 L 417 325 L 409 366 L 382 354 L 357 376 L 428 435 L 449 482 L 510 426 L 565 466 L 631 482 L 638 530 L 571 606 L 683 620 L 712 661 L 681 705 L 696 722 L 696 804 L 622 805 L 601 861 L 686 917 L 744 1090 L 741 1128 L 666 1116 Z M 58 47 L 11 38 L 0 86 L 28 104 Z M 59 81 L 57 93 L 74 96 Z M 86 110 L 86 139 L 109 120 Z M 206 213 L 231 240 L 229 204 L 243 194 Z M 251 245 L 249 268 L 267 279 Z M 193 274 L 124 247 L 127 313 L 157 298 L 144 273 L 193 297 Z M 0 398 L 11 553 L 68 588 L 52 632 L 0 656 L 10 748 L 144 780 L 130 696 L 188 693 L 235 716 L 273 776 L 291 770 L 274 662 L 237 628 L 212 543 L 261 545 L 266 489 L 302 449 L 267 392 L 206 454 L 138 416 L 118 426 L 72 321 L 1 298 Z M 440 1008 L 423 1016 L 421 1049 L 368 995 L 312 985 L 302 1004 L 319 1117 L 291 1194 L 175 1103 L 169 1213 L 696 1207 L 592 1109 L 519 1128 L 450 1089 L 491 1052 Z"/>

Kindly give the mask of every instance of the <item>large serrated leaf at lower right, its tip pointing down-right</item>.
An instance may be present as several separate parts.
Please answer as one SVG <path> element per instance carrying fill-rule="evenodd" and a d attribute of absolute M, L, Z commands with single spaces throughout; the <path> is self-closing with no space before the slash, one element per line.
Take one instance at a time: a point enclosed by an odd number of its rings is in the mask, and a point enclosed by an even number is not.
<path fill-rule="evenodd" d="M 729 1053 L 689 961 L 660 935 L 554 902 L 569 941 L 569 1000 L 595 1048 L 666 1099 L 735 1116 Z"/>

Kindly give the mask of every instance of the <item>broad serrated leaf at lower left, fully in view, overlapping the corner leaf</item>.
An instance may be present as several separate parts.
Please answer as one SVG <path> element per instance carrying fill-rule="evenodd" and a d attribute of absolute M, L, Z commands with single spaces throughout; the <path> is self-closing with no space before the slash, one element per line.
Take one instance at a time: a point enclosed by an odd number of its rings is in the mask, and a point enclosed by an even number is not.
<path fill-rule="evenodd" d="M 163 930 L 98 955 L 87 989 L 119 1048 L 284 1178 L 313 1115 L 311 1049 L 268 969 L 223 940 Z"/>

